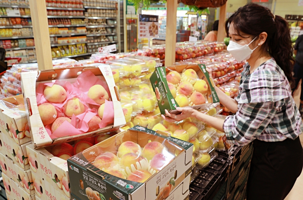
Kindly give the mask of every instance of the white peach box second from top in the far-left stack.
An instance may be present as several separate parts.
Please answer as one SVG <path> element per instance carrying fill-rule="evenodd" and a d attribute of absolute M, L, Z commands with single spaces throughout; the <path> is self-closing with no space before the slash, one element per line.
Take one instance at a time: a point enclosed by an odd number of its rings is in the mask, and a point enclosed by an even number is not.
<path fill-rule="evenodd" d="M 28 142 L 22 145 L 16 144 L 13 138 L 8 137 L 7 156 L 13 160 L 13 162 L 24 170 L 29 169 L 28 156 L 26 152 L 26 146 L 32 144 Z"/>

